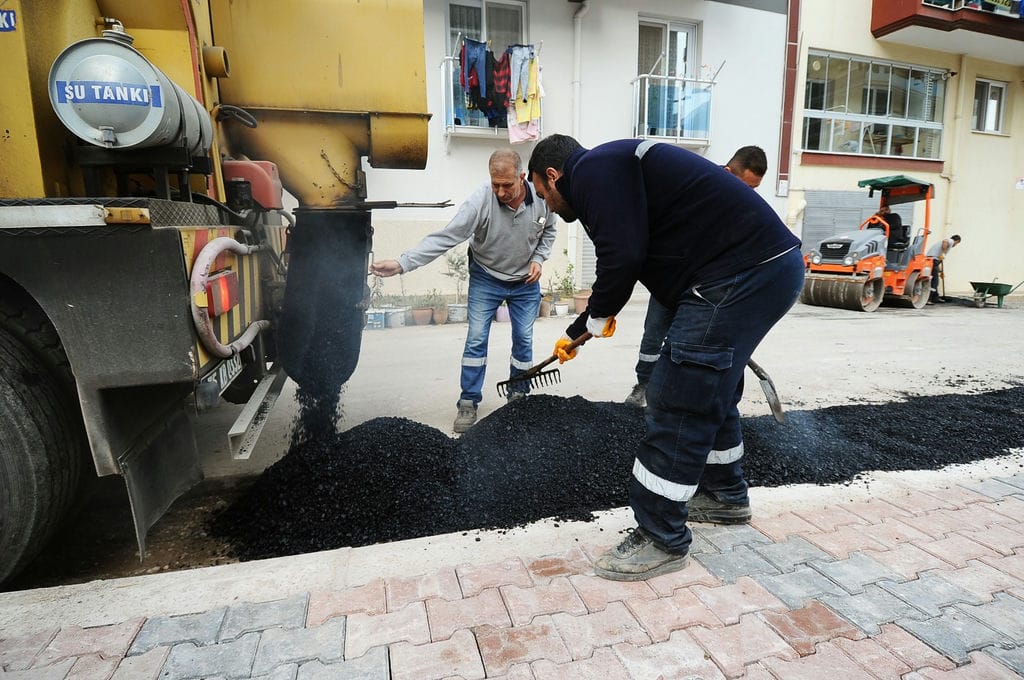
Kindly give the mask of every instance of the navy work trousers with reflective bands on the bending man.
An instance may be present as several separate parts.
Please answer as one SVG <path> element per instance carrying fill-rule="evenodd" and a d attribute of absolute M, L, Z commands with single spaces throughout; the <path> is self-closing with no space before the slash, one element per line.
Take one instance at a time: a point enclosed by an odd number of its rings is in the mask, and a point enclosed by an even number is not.
<path fill-rule="evenodd" d="M 799 249 L 680 300 L 647 385 L 647 433 L 629 482 L 637 523 L 670 552 L 689 549 L 686 501 L 698 486 L 745 503 L 736 405 L 755 348 L 800 296 Z"/>

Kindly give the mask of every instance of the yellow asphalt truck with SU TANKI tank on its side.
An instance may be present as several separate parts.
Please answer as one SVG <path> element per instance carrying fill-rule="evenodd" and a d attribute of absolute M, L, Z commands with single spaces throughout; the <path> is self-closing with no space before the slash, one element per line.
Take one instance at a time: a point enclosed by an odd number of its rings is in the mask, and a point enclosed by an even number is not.
<path fill-rule="evenodd" d="M 0 582 L 96 475 L 146 530 L 188 409 L 351 375 L 373 168 L 427 154 L 420 0 L 0 1 Z M 298 207 L 283 209 L 285 192 Z"/>

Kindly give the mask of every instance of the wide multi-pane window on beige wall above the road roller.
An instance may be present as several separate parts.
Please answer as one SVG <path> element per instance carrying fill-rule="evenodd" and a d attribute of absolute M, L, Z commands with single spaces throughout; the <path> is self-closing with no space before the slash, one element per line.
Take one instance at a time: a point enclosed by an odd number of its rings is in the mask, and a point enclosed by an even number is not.
<path fill-rule="evenodd" d="M 939 158 L 945 71 L 816 50 L 807 62 L 805 151 Z"/>

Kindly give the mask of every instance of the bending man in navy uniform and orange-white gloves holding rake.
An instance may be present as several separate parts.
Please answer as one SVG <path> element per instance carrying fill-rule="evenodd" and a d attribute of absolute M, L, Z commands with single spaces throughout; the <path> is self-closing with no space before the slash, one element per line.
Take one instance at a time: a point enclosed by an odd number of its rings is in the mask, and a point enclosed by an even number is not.
<path fill-rule="evenodd" d="M 588 308 L 555 345 L 560 360 L 575 356 L 567 345 L 584 333 L 614 332 L 637 282 L 674 310 L 629 482 L 638 527 L 595 572 L 639 581 L 681 569 L 687 519 L 751 518 L 737 403 L 748 359 L 800 295 L 800 240 L 738 177 L 672 144 L 587 150 L 556 134 L 538 143 L 528 170 L 551 210 L 580 220 L 597 255 Z"/>

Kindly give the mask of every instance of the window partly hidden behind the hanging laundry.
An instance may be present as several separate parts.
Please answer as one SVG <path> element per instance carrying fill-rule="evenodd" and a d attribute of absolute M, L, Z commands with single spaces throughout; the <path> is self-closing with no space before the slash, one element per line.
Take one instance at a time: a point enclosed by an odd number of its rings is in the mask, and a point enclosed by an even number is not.
<path fill-rule="evenodd" d="M 449 4 L 449 56 L 445 65 L 445 112 L 447 126 L 487 128 L 487 118 L 468 109 L 459 84 L 459 50 L 464 38 L 488 43 L 500 56 L 509 45 L 525 44 L 525 3 L 516 0 L 460 0 Z M 500 127 L 505 127 L 503 122 Z"/>

